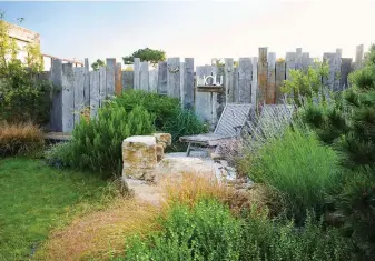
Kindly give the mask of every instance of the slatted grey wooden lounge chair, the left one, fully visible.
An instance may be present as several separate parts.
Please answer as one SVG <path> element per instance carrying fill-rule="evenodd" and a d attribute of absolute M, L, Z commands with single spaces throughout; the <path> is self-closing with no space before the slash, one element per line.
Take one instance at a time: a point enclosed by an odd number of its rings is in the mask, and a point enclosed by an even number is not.
<path fill-rule="evenodd" d="M 188 143 L 186 155 L 190 155 L 191 150 L 215 149 L 220 142 L 238 137 L 251 110 L 253 106 L 248 103 L 227 103 L 214 133 L 179 138 L 180 142 Z"/>

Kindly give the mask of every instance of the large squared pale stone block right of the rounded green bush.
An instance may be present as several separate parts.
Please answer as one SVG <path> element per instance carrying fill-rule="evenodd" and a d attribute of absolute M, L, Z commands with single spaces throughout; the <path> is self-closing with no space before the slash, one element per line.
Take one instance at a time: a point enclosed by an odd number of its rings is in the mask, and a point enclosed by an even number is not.
<path fill-rule="evenodd" d="M 122 142 L 122 177 L 149 179 L 157 164 L 157 142 L 154 135 L 134 135 Z"/>

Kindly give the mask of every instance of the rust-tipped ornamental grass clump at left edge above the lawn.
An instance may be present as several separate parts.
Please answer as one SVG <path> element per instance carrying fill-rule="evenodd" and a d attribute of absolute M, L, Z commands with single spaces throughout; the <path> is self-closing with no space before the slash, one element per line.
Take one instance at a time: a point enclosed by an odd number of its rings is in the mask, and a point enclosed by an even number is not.
<path fill-rule="evenodd" d="M 0 155 L 34 152 L 43 147 L 43 132 L 32 123 L 0 122 Z"/>

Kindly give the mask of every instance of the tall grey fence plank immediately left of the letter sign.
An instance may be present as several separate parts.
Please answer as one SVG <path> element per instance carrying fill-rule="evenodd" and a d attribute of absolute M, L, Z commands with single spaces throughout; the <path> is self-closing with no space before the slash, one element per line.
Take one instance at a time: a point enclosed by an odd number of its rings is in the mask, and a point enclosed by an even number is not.
<path fill-rule="evenodd" d="M 184 70 L 184 109 L 194 107 L 194 58 L 185 58 Z"/>

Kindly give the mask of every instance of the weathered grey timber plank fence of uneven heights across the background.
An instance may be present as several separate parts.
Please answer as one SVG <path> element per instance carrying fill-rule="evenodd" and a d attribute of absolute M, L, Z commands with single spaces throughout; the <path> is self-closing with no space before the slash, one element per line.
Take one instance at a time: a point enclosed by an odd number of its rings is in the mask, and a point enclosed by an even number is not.
<path fill-rule="evenodd" d="M 364 54 L 363 44 L 356 49 L 355 61 L 342 58 L 342 50 L 325 52 L 323 60 L 329 66 L 329 76 L 325 83 L 339 91 L 348 87 L 347 76 L 361 67 Z M 320 59 L 322 60 L 322 59 Z M 276 60 L 275 52 L 259 48 L 258 57 L 239 58 L 235 66 L 233 58 L 226 58 L 224 66 L 194 66 L 193 58 L 168 58 L 165 62 L 150 66 L 135 59 L 134 71 L 122 71 L 121 63 L 108 58 L 106 67 L 89 71 L 89 61 L 83 68 L 53 60 L 51 71 L 43 72 L 61 91 L 55 94 L 51 110 L 51 131 L 71 132 L 79 122 L 80 111 L 89 109 L 95 118 L 105 100 L 122 90 L 138 89 L 178 98 L 186 109 L 194 109 L 204 121 L 216 124 L 226 102 L 278 103 L 284 97 L 280 87 L 290 78 L 290 70 L 306 70 L 314 64 L 308 52 L 297 48 L 287 52 L 284 59 Z M 197 78 L 218 76 L 224 79 L 223 91 L 201 91 L 197 88 Z"/>

